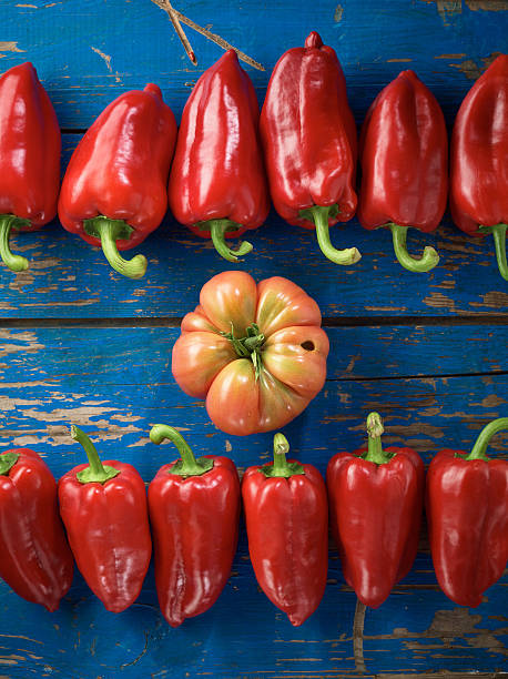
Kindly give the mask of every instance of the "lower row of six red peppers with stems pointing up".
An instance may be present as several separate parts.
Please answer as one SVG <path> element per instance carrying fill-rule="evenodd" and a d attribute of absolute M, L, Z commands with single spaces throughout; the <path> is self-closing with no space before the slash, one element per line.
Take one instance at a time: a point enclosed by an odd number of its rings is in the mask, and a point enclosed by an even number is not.
<path fill-rule="evenodd" d="M 367 448 L 329 460 L 326 491 L 315 467 L 286 459 L 282 434 L 274 437 L 273 463 L 248 467 L 240 484 L 231 459 L 196 459 L 176 429 L 155 425 L 151 440 L 171 439 L 181 458 L 161 467 L 146 501 L 134 467 L 102 464 L 72 426 L 89 464 L 60 479 L 58 497 L 37 453 L 0 455 L 0 576 L 20 596 L 55 610 L 71 586 L 74 557 L 93 592 L 119 612 L 141 591 L 153 537 L 159 602 L 176 627 L 207 610 L 230 577 L 242 495 L 257 581 L 301 625 L 326 586 L 328 503 L 344 577 L 364 605 L 378 607 L 413 566 L 425 498 L 438 582 L 457 604 L 478 606 L 508 558 L 508 462 L 486 455 L 490 438 L 507 428 L 507 417 L 490 422 L 469 455 L 441 450 L 425 479 L 415 450 L 383 449 L 383 423 L 370 413 Z"/>

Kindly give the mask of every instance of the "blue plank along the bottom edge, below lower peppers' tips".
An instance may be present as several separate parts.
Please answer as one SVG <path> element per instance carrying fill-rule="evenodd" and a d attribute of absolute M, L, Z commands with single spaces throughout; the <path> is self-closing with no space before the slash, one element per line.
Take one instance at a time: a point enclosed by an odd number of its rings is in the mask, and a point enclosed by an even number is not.
<path fill-rule="evenodd" d="M 242 531 L 240 554 L 245 548 Z M 336 566 L 322 605 L 301 628 L 292 628 L 257 590 L 245 558 L 236 558 L 233 568 L 215 606 L 177 629 L 161 617 L 151 571 L 138 602 L 119 615 L 105 611 L 79 576 L 54 614 L 2 587 L 0 606 L 8 609 L 13 636 L 0 636 L 0 672 L 23 679 L 356 676 L 350 634 L 355 596 L 344 591 Z M 499 589 L 491 590 L 497 604 Z M 475 610 L 456 607 L 433 589 L 395 591 L 379 609 L 367 611 L 367 672 L 500 672 L 506 669 L 507 629 L 491 610 L 488 604 Z M 386 639 L 387 630 L 393 638 Z M 479 648 L 478 640 L 486 647 Z"/>

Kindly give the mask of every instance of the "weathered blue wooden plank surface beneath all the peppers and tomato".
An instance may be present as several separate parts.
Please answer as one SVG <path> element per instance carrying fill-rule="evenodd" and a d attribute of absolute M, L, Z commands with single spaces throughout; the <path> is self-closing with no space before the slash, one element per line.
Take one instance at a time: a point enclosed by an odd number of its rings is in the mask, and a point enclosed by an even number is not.
<path fill-rule="evenodd" d="M 508 51 L 508 2 L 501 0 L 175 4 L 266 67 L 246 67 L 260 102 L 280 54 L 319 31 L 337 50 L 358 124 L 377 92 L 412 68 L 450 125 L 480 70 Z M 194 69 L 150 0 L 8 0 L 0 17 L 2 70 L 31 60 L 55 104 L 62 169 L 114 97 L 154 81 L 179 118 L 193 82 L 222 53 L 185 29 L 199 59 Z M 491 242 L 468 239 L 448 219 L 436 235 L 412 232 L 412 252 L 433 244 L 441 255 L 434 272 L 418 275 L 398 266 L 387 232 L 365 232 L 356 220 L 332 235 L 338 246 L 362 251 L 349 268 L 328 263 L 311 233 L 274 214 L 248 237 L 255 250 L 240 266 L 257 280 L 295 280 L 319 303 L 331 338 L 325 388 L 284 429 L 296 457 L 324 473 L 336 450 L 363 443 L 365 417 L 377 409 L 386 444 L 407 442 L 428 464 L 441 447 L 467 449 L 485 423 L 507 414 L 508 284 Z M 30 446 L 60 476 L 82 462 L 68 433 L 72 422 L 105 457 L 134 463 L 148 483 L 175 455 L 148 438 L 152 424 L 166 422 L 182 428 L 196 453 L 226 453 L 241 472 L 267 459 L 270 434 L 216 430 L 203 403 L 185 396 L 171 375 L 179 317 L 195 306 L 207 278 L 232 265 L 170 216 L 139 250 L 149 270 L 132 282 L 58 222 L 14 237 L 14 251 L 32 266 L 18 276 L 0 267 L 0 450 Z M 506 458 L 506 436 L 491 449 Z M 0 679 L 358 676 L 354 609 L 332 548 L 325 598 L 302 628 L 292 628 L 257 589 L 242 524 L 225 591 L 177 630 L 159 611 L 152 570 L 139 601 L 118 616 L 79 574 L 55 614 L 0 585 Z M 424 529 L 410 574 L 378 610 L 367 611 L 364 655 L 366 677 L 508 673 L 508 572 L 477 609 L 454 605 L 436 584 Z"/>

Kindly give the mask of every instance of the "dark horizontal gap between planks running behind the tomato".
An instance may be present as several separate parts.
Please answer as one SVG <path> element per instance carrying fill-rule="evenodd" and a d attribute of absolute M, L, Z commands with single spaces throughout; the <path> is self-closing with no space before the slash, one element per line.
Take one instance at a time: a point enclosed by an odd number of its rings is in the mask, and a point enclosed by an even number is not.
<path fill-rule="evenodd" d="M 45 327 L 180 327 L 181 317 L 176 316 L 129 316 L 89 318 L 0 318 L 0 330 L 37 330 Z M 323 327 L 399 327 L 399 326 L 459 326 L 459 325 L 508 325 L 508 314 L 465 315 L 465 316 L 360 316 L 324 317 Z"/>

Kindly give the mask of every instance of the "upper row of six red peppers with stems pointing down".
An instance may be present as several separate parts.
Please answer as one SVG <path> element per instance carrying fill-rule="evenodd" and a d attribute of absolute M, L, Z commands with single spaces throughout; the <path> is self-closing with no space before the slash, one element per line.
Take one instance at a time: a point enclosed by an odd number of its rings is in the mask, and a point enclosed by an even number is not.
<path fill-rule="evenodd" d="M 449 191 L 451 215 L 463 231 L 492 233 L 506 280 L 507 98 L 508 55 L 501 54 L 457 114 Z M 328 232 L 356 209 L 366 229 L 392 230 L 406 268 L 429 271 L 439 260 L 433 247 L 419 260 L 406 250 L 408 226 L 431 232 L 446 207 L 448 143 L 439 104 L 413 71 L 402 72 L 367 112 L 358 152 L 341 64 L 316 32 L 276 63 L 261 116 L 252 81 L 233 50 L 199 79 L 179 133 L 158 85 L 122 94 L 81 140 L 59 199 L 60 130 L 30 63 L 0 78 L 0 255 L 13 271 L 28 262 L 10 252 L 10 231 L 45 224 L 57 213 L 57 200 L 63 226 L 102 244 L 113 268 L 126 276 L 141 277 L 146 260 L 125 261 L 119 251 L 156 229 L 167 202 L 179 222 L 212 237 L 222 256 L 236 261 L 252 245 L 243 242 L 233 251 L 225 237 L 265 221 L 268 186 L 278 214 L 315 227 L 333 262 L 360 257 L 356 247 L 336 250 Z"/>

